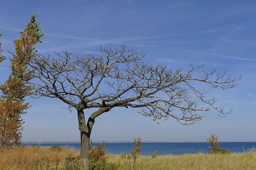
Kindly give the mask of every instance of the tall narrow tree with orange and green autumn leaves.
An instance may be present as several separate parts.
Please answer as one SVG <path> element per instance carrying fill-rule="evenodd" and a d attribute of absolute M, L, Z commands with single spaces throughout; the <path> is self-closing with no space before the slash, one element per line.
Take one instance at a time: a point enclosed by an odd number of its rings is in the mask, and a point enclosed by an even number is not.
<path fill-rule="evenodd" d="M 36 43 L 41 43 L 43 36 L 36 15 L 33 14 L 28 26 L 21 33 L 21 39 L 14 41 L 15 53 L 12 54 L 11 74 L 8 80 L 0 86 L 0 147 L 20 145 L 22 137 L 21 115 L 26 113 L 30 106 L 24 103 L 24 98 L 30 94 L 32 86 L 28 80 L 32 79 L 32 72 L 28 68 L 28 61 L 36 56 L 34 48 Z M 4 59 L 4 58 L 2 58 Z"/>

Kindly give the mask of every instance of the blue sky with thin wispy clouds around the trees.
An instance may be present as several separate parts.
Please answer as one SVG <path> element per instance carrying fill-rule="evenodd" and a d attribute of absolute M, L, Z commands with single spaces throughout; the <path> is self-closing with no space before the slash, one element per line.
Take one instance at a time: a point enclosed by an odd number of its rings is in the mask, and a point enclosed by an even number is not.
<path fill-rule="evenodd" d="M 227 70 L 244 77 L 231 90 L 211 90 L 217 104 L 233 108 L 223 118 L 212 111 L 190 126 L 139 115 L 136 109 L 116 108 L 96 118 L 93 141 L 256 141 L 256 2 L 254 1 L 47 1 L 0 2 L 0 42 L 6 57 L 14 51 L 30 16 L 38 15 L 43 43 L 38 53 L 68 50 L 76 55 L 99 53 L 99 45 L 122 44 L 147 53 L 145 62 L 184 69 L 190 63 Z M 9 74 L 0 66 L 0 83 Z M 32 107 L 23 115 L 23 141 L 79 141 L 76 113 L 58 99 L 27 98 Z M 90 113 L 91 110 L 87 111 Z M 86 112 L 85 112 L 86 113 Z"/>

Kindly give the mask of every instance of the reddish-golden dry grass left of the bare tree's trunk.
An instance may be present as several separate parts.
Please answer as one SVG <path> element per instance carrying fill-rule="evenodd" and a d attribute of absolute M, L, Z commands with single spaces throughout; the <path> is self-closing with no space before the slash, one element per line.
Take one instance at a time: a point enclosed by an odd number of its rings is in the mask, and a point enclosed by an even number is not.
<path fill-rule="evenodd" d="M 0 151 L 0 170 L 32 170 L 40 162 L 49 162 L 51 167 L 58 165 L 58 168 L 62 168 L 68 154 L 79 155 L 76 150 L 51 149 L 50 147 L 39 146 L 3 149 Z"/>

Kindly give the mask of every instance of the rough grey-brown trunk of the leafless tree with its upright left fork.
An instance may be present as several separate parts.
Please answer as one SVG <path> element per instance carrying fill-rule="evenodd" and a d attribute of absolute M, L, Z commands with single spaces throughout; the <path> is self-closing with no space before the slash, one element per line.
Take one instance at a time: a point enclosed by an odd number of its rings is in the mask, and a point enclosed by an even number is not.
<path fill-rule="evenodd" d="M 90 150 L 90 129 L 87 128 L 85 123 L 84 111 L 77 110 L 78 113 L 78 127 L 80 130 L 81 150 L 80 159 L 83 166 L 82 169 L 88 169 L 89 166 L 89 150 Z"/>

